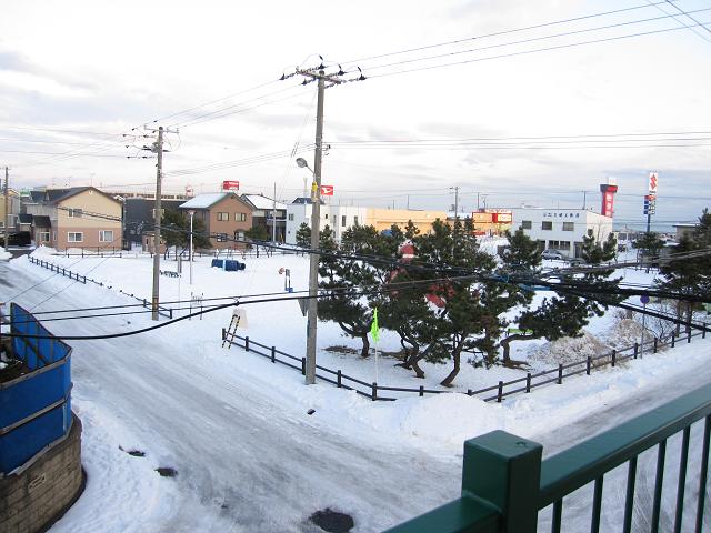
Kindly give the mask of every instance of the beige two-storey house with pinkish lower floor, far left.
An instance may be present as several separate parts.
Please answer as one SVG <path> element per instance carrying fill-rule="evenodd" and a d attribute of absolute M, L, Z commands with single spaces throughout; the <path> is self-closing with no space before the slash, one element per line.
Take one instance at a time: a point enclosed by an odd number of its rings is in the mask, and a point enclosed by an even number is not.
<path fill-rule="evenodd" d="M 36 192 L 36 191 L 33 191 Z M 48 189 L 26 204 L 37 245 L 120 249 L 121 202 L 93 187 Z"/>

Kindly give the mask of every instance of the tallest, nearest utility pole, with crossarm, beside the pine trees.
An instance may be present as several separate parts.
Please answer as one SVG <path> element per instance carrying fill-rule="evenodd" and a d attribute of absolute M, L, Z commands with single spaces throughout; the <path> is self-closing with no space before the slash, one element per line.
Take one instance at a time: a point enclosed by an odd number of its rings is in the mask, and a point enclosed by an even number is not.
<path fill-rule="evenodd" d="M 313 182 L 311 183 L 311 254 L 309 258 L 309 311 L 307 313 L 307 364 L 304 369 L 306 383 L 311 385 L 316 383 L 316 342 L 317 342 L 317 323 L 318 323 L 318 305 L 317 296 L 319 291 L 319 234 L 321 223 L 321 158 L 323 155 L 323 93 L 326 83 L 329 87 L 338 86 L 343 81 L 340 77 L 344 74 L 342 70 L 336 74 L 327 74 L 324 66 L 321 64 L 316 69 L 296 69 L 294 74 L 302 76 L 306 79 L 303 84 L 312 81 L 318 82 L 317 98 L 317 115 L 316 115 L 316 151 L 313 154 Z M 290 74 L 290 76 L 294 76 Z M 286 79 L 282 76 L 282 79 Z M 362 74 L 358 80 L 364 80 Z M 357 81 L 357 80 L 348 80 Z M 299 161 L 297 161 L 299 163 Z M 306 161 L 303 161 L 306 164 Z M 300 164 L 301 165 L 301 164 Z"/>

